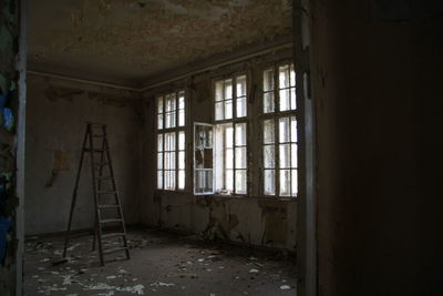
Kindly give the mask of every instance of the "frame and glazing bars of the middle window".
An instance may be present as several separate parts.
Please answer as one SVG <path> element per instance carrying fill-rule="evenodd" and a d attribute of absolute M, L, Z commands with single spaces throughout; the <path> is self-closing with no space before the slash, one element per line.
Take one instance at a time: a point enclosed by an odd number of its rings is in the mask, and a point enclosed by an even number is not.
<path fill-rule="evenodd" d="M 239 76 L 245 76 L 245 85 L 246 85 L 246 95 L 241 95 L 241 96 L 237 96 L 237 78 L 239 78 Z M 220 101 L 217 101 L 216 100 L 216 83 L 218 82 L 218 81 L 226 81 L 226 80 L 228 80 L 228 79 L 231 79 L 231 81 L 233 81 L 233 116 L 231 116 L 231 119 L 223 119 L 223 120 L 217 120 L 217 110 L 216 110 L 216 104 L 217 104 L 217 102 L 220 102 Z M 250 106 L 249 106 L 249 98 L 250 98 L 250 79 L 251 79 L 251 74 L 250 74 L 250 71 L 237 71 L 237 72 L 231 72 L 231 73 L 229 73 L 229 74 L 224 74 L 224 75 L 218 75 L 218 76 L 215 76 L 215 78 L 213 78 L 212 79 L 212 99 L 213 99 L 213 110 L 214 110 L 214 129 L 213 129 L 213 133 L 214 133 L 214 135 L 213 135 L 213 139 L 214 139 L 214 141 L 215 141 L 215 139 L 216 139 L 216 129 L 217 129 L 217 126 L 218 125 L 227 125 L 227 124 L 231 124 L 233 125 L 233 193 L 231 194 L 224 194 L 224 193 L 220 193 L 220 192 L 218 192 L 218 188 L 216 188 L 216 177 L 217 177 L 217 173 L 216 173 L 216 167 L 215 167 L 215 165 L 214 165 L 214 171 L 213 171 L 213 178 L 214 178 L 214 195 L 218 195 L 218 196 L 248 196 L 249 195 L 249 193 L 250 193 L 250 186 L 248 186 L 248 183 L 249 183 L 249 169 L 248 169 L 248 164 L 249 164 L 249 160 L 248 160 L 248 155 L 249 155 L 249 136 L 248 136 L 248 134 L 249 134 L 249 122 L 248 122 L 248 119 L 249 119 L 249 114 L 250 114 L 250 112 L 251 112 L 251 110 L 250 110 Z M 224 89 L 224 93 L 225 93 L 225 89 Z M 238 101 L 238 99 L 241 99 L 241 98 L 244 98 L 245 99 L 245 108 L 246 108 L 246 114 L 244 115 L 244 116 L 240 116 L 240 118 L 238 118 L 237 116 L 237 101 Z M 222 100 L 223 102 L 225 101 L 225 100 Z M 225 113 L 225 110 L 224 110 L 224 113 Z M 236 125 L 237 124 L 241 124 L 241 123 L 244 123 L 244 124 L 246 124 L 246 140 L 245 140 L 245 145 L 241 145 L 241 147 L 245 147 L 246 146 L 246 169 L 237 169 L 237 166 L 236 166 L 236 147 L 237 147 L 237 145 L 236 145 Z M 226 130 L 224 131 L 224 134 L 226 133 Z M 224 135 L 225 136 L 225 135 Z M 215 145 L 216 145 L 216 142 L 214 142 L 214 151 L 216 150 L 216 147 L 215 147 Z M 238 146 L 238 147 L 240 147 L 240 146 Z M 223 160 L 224 160 L 224 162 L 225 162 L 225 160 L 226 160 L 226 144 L 225 144 L 225 141 L 224 141 L 224 147 L 223 147 L 223 153 L 224 153 L 224 156 L 223 156 Z M 215 153 L 215 152 L 214 152 Z M 227 171 L 228 169 L 226 169 L 226 167 L 224 167 L 224 170 L 223 170 L 223 178 L 224 178 L 224 183 L 226 183 L 226 171 Z M 246 187 L 246 191 L 245 191 L 245 193 L 237 193 L 236 192 L 236 172 L 237 171 L 245 171 L 246 172 L 246 183 L 245 183 L 245 187 Z"/>

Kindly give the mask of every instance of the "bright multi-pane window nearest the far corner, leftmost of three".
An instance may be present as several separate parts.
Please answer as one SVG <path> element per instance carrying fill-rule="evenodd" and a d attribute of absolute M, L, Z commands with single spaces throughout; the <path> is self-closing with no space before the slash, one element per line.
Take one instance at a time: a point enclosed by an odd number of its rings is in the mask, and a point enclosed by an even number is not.
<path fill-rule="evenodd" d="M 157 188 L 185 188 L 185 92 L 157 98 Z"/>

